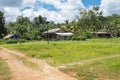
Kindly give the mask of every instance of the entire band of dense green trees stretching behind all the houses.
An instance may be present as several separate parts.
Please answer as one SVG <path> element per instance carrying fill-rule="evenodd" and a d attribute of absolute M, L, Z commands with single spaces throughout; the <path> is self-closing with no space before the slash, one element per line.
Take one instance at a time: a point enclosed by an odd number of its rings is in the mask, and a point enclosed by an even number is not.
<path fill-rule="evenodd" d="M 0 38 L 6 33 L 4 28 L 4 15 L 0 12 Z M 55 24 L 53 21 L 47 21 L 46 17 L 41 15 L 30 20 L 28 17 L 18 16 L 16 22 L 6 24 L 7 33 L 15 33 L 22 39 L 41 40 L 43 32 L 52 28 L 62 28 L 74 33 L 73 39 L 79 37 L 91 38 L 90 32 L 109 32 L 114 37 L 120 37 L 120 15 L 112 14 L 103 16 L 99 7 L 85 10 L 80 9 L 79 16 L 73 21 L 66 20 L 64 23 Z"/>

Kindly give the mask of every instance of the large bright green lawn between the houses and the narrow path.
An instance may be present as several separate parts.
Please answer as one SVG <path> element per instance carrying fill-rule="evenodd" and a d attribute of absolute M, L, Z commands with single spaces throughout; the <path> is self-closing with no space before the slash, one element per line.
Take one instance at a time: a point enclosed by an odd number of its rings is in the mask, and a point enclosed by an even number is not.
<path fill-rule="evenodd" d="M 120 54 L 120 38 L 91 39 L 87 41 L 45 41 L 4 44 L 4 47 L 24 52 L 28 56 L 46 60 L 59 66 L 90 58 Z"/>

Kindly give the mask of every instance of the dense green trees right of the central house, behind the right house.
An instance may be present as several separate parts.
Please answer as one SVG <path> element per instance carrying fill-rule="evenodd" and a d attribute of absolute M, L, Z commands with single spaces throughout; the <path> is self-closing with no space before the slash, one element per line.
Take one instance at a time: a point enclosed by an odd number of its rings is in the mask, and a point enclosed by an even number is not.
<path fill-rule="evenodd" d="M 114 37 L 120 37 L 120 15 L 112 14 L 111 16 L 103 16 L 99 7 L 85 10 L 80 9 L 80 15 L 76 20 L 69 23 L 65 21 L 65 29 L 74 33 L 74 36 L 92 37 L 90 32 L 109 32 Z"/>

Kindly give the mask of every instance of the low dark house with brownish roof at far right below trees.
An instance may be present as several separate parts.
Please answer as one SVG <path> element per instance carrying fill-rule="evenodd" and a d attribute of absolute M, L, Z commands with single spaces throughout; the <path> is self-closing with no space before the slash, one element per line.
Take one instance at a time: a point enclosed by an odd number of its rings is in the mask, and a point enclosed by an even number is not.
<path fill-rule="evenodd" d="M 99 38 L 111 38 L 112 34 L 109 32 L 91 32 L 95 37 Z"/>

